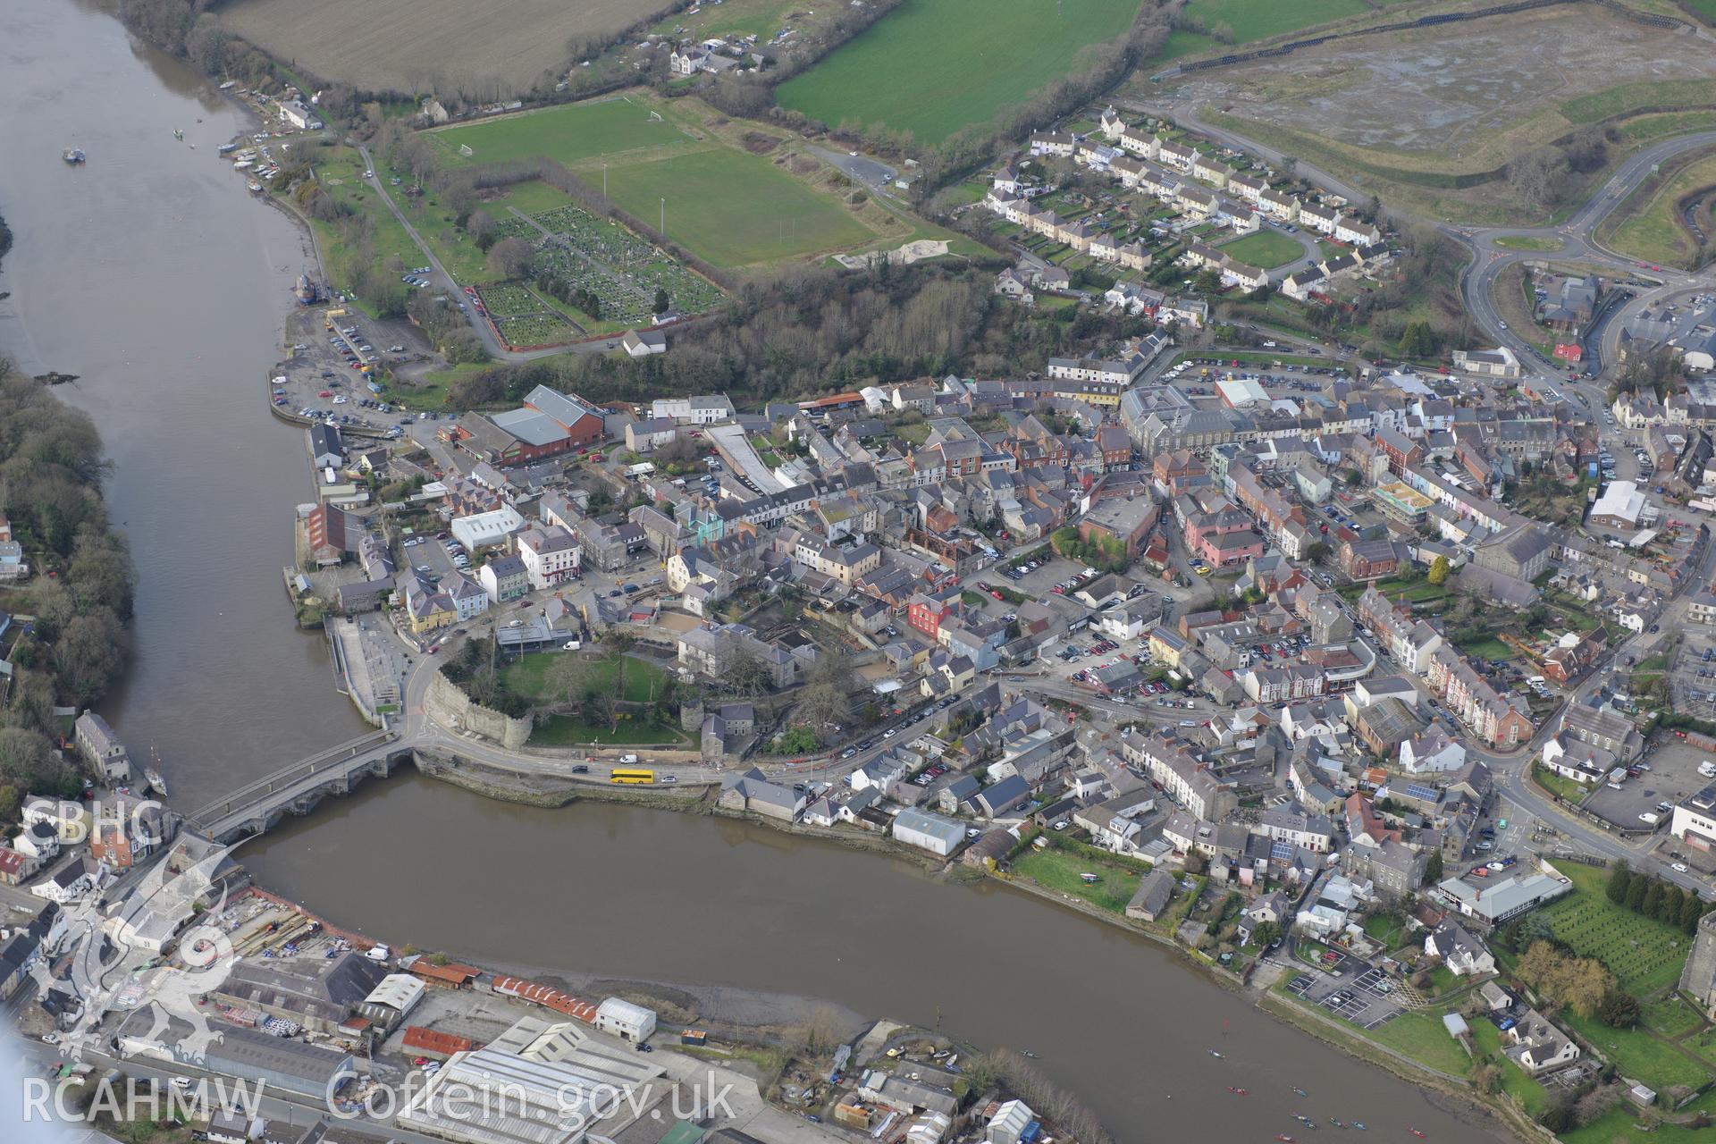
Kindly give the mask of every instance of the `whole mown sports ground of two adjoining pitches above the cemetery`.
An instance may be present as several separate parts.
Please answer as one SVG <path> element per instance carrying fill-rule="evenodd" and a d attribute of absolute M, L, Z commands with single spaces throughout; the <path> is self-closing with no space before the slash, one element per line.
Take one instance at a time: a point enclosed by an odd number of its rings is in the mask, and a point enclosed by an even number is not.
<path fill-rule="evenodd" d="M 654 120 L 650 113 L 662 118 Z M 832 197 L 647 98 L 571 103 L 429 135 L 450 163 L 547 156 L 716 266 L 844 250 L 875 238 Z M 472 154 L 460 153 L 460 146 Z M 606 172 L 604 172 L 606 166 Z M 606 177 L 606 184 L 604 184 Z"/>

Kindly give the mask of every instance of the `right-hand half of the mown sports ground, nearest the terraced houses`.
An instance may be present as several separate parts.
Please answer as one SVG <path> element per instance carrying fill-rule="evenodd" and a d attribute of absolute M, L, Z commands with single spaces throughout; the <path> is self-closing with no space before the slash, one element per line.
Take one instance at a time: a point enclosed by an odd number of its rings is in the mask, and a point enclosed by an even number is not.
<path fill-rule="evenodd" d="M 832 199 L 767 160 L 726 148 L 616 166 L 607 194 L 650 225 L 666 199 L 666 233 L 716 266 L 837 250 L 872 237 Z"/>

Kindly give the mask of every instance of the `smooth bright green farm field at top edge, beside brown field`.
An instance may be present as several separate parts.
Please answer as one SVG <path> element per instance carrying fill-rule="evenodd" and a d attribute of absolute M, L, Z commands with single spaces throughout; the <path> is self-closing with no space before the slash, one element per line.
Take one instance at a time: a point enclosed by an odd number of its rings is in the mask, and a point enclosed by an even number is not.
<path fill-rule="evenodd" d="M 1066 75 L 1081 48 L 1124 34 L 1134 15 L 1138 0 L 992 0 L 982 9 L 906 0 L 781 84 L 776 101 L 831 127 L 882 123 L 935 146 Z"/>

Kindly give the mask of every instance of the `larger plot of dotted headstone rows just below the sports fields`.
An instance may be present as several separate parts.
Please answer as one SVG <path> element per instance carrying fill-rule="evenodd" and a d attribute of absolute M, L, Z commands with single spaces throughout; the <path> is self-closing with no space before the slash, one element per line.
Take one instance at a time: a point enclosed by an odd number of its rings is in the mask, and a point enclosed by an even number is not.
<path fill-rule="evenodd" d="M 532 214 L 529 225 L 547 233 L 532 269 L 597 298 L 601 312 L 590 317 L 621 326 L 647 322 L 657 292 L 685 314 L 700 314 L 721 302 L 721 292 L 707 280 L 619 223 L 583 208 L 542 211 Z"/>

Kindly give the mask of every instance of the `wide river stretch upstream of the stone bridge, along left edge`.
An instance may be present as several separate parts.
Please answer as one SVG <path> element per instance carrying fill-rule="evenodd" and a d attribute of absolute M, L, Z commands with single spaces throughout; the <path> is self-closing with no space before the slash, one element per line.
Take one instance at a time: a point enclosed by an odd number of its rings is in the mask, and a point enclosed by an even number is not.
<path fill-rule="evenodd" d="M 0 352 L 79 376 L 57 393 L 101 431 L 141 573 L 137 657 L 100 710 L 197 806 L 366 729 L 281 583 L 309 458 L 263 379 L 304 242 L 216 158 L 242 115 L 100 7 L 9 0 L 0 53 Z"/>

